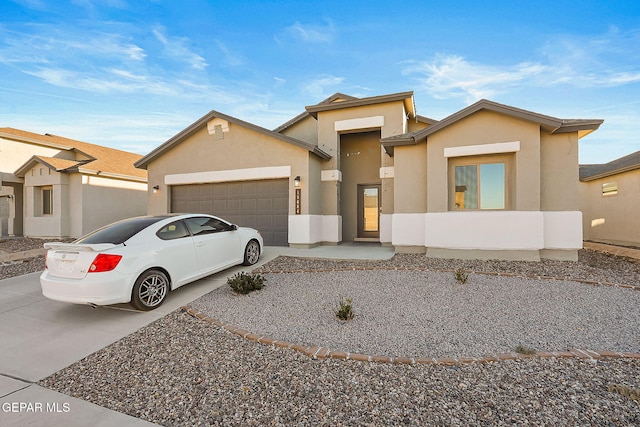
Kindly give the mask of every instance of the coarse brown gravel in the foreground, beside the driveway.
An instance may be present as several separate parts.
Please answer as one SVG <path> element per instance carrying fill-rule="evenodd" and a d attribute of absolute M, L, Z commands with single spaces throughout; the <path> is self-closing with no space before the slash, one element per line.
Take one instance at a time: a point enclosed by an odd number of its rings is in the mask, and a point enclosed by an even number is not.
<path fill-rule="evenodd" d="M 313 360 L 172 313 L 41 385 L 165 426 L 640 425 L 640 360 Z"/>

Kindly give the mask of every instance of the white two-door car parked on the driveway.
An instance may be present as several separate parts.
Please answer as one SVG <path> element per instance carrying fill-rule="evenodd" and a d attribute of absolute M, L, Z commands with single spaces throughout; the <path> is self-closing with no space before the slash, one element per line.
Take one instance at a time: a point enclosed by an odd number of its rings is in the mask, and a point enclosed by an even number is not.
<path fill-rule="evenodd" d="M 129 302 L 152 310 L 170 290 L 238 264 L 253 265 L 262 236 L 205 214 L 143 216 L 73 243 L 45 243 L 42 294 L 75 304 Z"/>

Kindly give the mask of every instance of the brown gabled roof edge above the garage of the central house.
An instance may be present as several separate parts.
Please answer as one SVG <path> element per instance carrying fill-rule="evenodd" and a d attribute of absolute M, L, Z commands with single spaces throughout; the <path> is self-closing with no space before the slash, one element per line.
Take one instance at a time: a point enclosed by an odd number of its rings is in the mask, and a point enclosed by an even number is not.
<path fill-rule="evenodd" d="M 280 141 L 284 141 L 284 142 L 287 142 L 289 144 L 293 144 L 293 145 L 296 145 L 298 147 L 305 148 L 305 149 L 309 150 L 309 152 L 312 152 L 312 153 L 318 155 L 319 157 L 321 157 L 321 158 L 323 158 L 325 160 L 328 160 L 328 159 L 331 158 L 331 155 L 325 153 L 324 151 L 319 149 L 314 144 L 310 144 L 308 142 L 301 141 L 299 139 L 292 138 L 290 136 L 282 135 L 282 134 L 277 133 L 275 131 L 271 131 L 269 129 L 263 128 L 261 126 L 257 126 L 257 125 L 254 125 L 252 123 L 245 122 L 244 120 L 240 120 L 240 119 L 238 119 L 236 117 L 232 117 L 232 116 L 229 116 L 227 114 L 223 114 L 223 113 L 221 113 L 219 111 L 211 110 L 209 113 L 205 114 L 204 116 L 202 116 L 201 118 L 196 120 L 194 123 L 189 125 L 186 129 L 182 130 L 180 133 L 178 133 L 175 136 L 173 136 L 172 138 L 170 138 L 164 144 L 160 145 L 159 147 L 157 147 L 156 149 L 151 151 L 149 154 L 147 154 L 146 156 L 142 157 L 140 160 L 138 160 L 135 163 L 135 167 L 141 168 L 141 169 L 146 169 L 147 166 L 149 165 L 149 163 L 153 159 L 161 156 L 162 154 L 164 154 L 166 151 L 168 151 L 169 149 L 171 149 L 175 145 L 180 144 L 182 141 L 184 141 L 185 139 L 187 139 L 188 137 L 193 135 L 195 132 L 197 132 L 201 128 L 206 127 L 207 123 L 210 122 L 211 120 L 215 119 L 215 118 L 220 118 L 220 119 L 226 120 L 226 121 L 228 121 L 230 123 L 234 123 L 234 124 L 236 124 L 238 126 L 242 126 L 243 128 L 251 129 L 251 130 L 253 130 L 255 132 L 259 132 L 261 134 L 268 135 L 268 136 L 270 136 L 272 138 L 275 138 L 275 139 L 278 139 Z"/>

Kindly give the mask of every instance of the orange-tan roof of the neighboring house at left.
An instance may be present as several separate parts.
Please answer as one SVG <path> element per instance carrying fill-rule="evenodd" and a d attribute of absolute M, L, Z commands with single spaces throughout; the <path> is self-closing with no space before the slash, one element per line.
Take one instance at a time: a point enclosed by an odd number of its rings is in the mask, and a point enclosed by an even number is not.
<path fill-rule="evenodd" d="M 139 154 L 64 138 L 62 136 L 51 134 L 40 135 L 14 128 L 0 128 L 0 138 L 57 148 L 62 151 L 72 152 L 76 158 L 75 160 L 69 160 L 34 156 L 27 162 L 31 164 L 31 166 L 33 166 L 33 161 L 38 161 L 59 172 L 101 175 L 140 182 L 147 181 L 147 173 L 133 166 L 133 164 L 142 157 Z M 21 166 L 20 169 L 16 171 L 16 175 L 20 175 L 20 173 L 24 174 L 25 166 L 26 164 Z"/>

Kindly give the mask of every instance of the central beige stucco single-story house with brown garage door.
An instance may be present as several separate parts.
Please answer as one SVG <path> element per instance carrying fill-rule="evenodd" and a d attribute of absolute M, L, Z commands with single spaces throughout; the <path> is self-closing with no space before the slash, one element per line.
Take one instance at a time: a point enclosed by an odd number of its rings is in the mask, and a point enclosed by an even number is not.
<path fill-rule="evenodd" d="M 211 111 L 136 166 L 149 213 L 210 212 L 266 244 L 576 259 L 578 139 L 601 123 L 486 100 L 436 121 L 413 92 L 338 93 L 274 131 Z"/>

